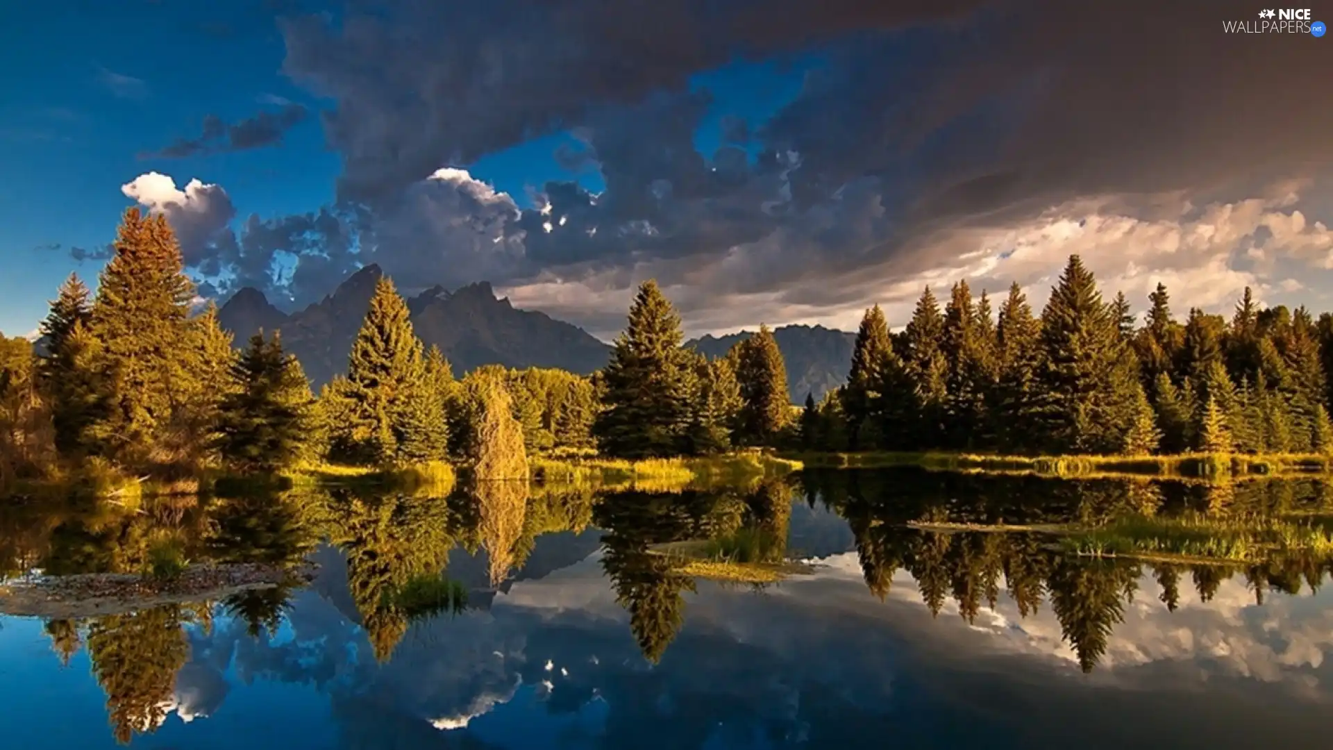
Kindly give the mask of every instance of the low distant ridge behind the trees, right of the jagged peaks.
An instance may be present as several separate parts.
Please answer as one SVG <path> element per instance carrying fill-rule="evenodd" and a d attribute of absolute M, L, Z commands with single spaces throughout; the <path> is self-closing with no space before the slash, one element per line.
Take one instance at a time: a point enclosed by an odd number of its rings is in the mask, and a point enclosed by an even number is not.
<path fill-rule="evenodd" d="M 752 335 L 750 331 L 740 331 L 725 336 L 704 336 L 686 342 L 685 346 L 709 358 L 725 356 L 728 350 Z M 786 362 L 786 390 L 792 403 L 804 403 L 806 394 L 814 394 L 814 400 L 818 400 L 846 380 L 856 334 L 824 326 L 782 326 L 773 330 L 773 339 Z"/>

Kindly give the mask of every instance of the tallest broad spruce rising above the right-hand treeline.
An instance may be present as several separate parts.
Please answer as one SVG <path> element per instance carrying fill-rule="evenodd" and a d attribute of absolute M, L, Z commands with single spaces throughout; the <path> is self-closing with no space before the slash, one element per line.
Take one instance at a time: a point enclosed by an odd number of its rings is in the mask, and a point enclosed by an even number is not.
<path fill-rule="evenodd" d="M 1124 444 L 1134 411 L 1133 356 L 1092 272 L 1069 256 L 1041 315 L 1041 382 L 1050 447 L 1110 452 Z"/>

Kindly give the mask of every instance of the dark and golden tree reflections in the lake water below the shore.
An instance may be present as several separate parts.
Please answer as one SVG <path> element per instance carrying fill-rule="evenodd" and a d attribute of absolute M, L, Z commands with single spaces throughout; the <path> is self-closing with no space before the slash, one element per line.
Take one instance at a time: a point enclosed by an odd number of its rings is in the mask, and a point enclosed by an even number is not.
<path fill-rule="evenodd" d="M 664 554 L 664 546 L 696 543 L 726 565 L 781 565 L 804 554 L 790 548 L 793 494 L 845 520 L 865 587 L 876 599 L 893 597 L 896 577 L 905 574 L 932 615 L 952 606 L 969 625 L 1002 595 L 1022 618 L 1049 606 L 1084 671 L 1105 657 L 1141 582 L 1156 581 L 1161 606 L 1176 611 L 1190 586 L 1206 603 L 1225 581 L 1240 577 L 1262 603 L 1273 593 L 1314 591 L 1333 567 L 1333 543 L 1318 544 L 1329 514 L 1321 479 L 1056 480 L 893 470 L 810 471 L 678 491 L 501 482 L 459 487 L 449 496 L 340 487 L 175 499 L 140 510 L 71 500 L 0 511 L 0 569 L 133 573 L 167 547 L 192 562 L 295 569 L 327 540 L 345 560 L 345 594 L 339 594 L 341 578 L 319 594 L 347 597 L 355 609 L 345 610 L 348 618 L 359 621 L 371 654 L 383 663 L 415 623 L 487 606 L 487 597 L 472 599 L 479 589 L 508 590 L 544 535 L 596 527 L 608 586 L 628 613 L 643 657 L 659 663 L 685 627 L 690 595 L 698 590 L 694 569 Z M 1130 554 L 1113 558 L 1080 554 L 1066 543 L 1072 528 L 1109 534 L 1128 528 L 1126 518 L 1140 519 L 1133 528 L 1178 538 L 1129 536 L 1120 543 Z M 1177 523 L 1184 518 L 1198 520 Z M 1249 546 L 1212 543 L 1228 534 L 1249 539 Z M 1264 542 L 1284 534 L 1306 542 Z M 1170 544 L 1177 542 L 1181 550 L 1234 554 L 1173 556 Z M 1153 554 L 1136 555 L 1134 544 Z M 453 550 L 485 555 L 472 590 L 448 575 Z M 172 710 L 176 674 L 189 658 L 187 629 L 207 630 L 221 613 L 248 638 L 275 638 L 297 586 L 293 581 L 221 602 L 52 619 L 45 633 L 61 663 L 87 649 L 107 694 L 113 734 L 128 742 L 156 730 Z"/>

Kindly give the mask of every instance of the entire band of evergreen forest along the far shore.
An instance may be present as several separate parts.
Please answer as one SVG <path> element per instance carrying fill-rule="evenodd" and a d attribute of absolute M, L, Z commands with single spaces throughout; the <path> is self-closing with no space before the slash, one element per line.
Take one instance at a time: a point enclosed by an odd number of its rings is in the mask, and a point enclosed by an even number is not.
<path fill-rule="evenodd" d="M 60 287 L 41 339 L 0 342 L 0 488 L 23 482 L 297 467 L 468 466 L 517 478 L 528 456 L 953 451 L 996 455 L 1333 452 L 1333 315 L 1262 307 L 1177 319 L 1158 284 L 1137 314 L 1072 256 L 1038 312 L 958 282 L 925 288 L 890 332 L 865 312 L 846 383 L 788 400 L 769 328 L 725 356 L 682 346 L 653 282 L 605 368 L 484 366 L 456 378 L 377 282 L 344 375 L 312 392 L 279 331 L 233 342 L 196 304 L 163 216 L 125 212 L 96 294 Z"/>

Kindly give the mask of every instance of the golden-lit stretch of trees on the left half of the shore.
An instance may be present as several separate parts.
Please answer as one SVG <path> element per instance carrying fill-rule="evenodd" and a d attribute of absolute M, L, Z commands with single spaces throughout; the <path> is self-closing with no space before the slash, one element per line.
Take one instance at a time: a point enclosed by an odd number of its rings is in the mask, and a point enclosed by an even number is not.
<path fill-rule="evenodd" d="M 772 444 L 790 424 L 770 332 L 706 362 L 680 346 L 680 319 L 653 283 L 604 372 L 488 366 L 457 380 L 380 279 L 347 375 L 319 398 L 277 332 L 235 351 L 216 310 L 192 315 L 195 302 L 167 222 L 129 210 L 96 296 L 75 275 L 61 286 L 41 324 L 43 351 L 0 342 L 0 487 L 320 462 L 452 460 L 516 479 L 531 452 L 697 455 Z"/>

